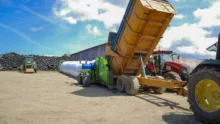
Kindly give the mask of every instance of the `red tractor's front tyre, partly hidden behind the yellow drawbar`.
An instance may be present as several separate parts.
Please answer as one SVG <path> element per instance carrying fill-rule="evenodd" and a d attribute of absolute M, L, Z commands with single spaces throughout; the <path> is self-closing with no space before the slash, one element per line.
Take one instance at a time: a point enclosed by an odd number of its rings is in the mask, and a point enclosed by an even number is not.
<path fill-rule="evenodd" d="M 164 77 L 165 79 L 172 79 L 172 80 L 182 81 L 180 75 L 177 74 L 176 72 L 172 72 L 172 71 L 165 73 L 165 74 L 163 75 L 163 77 Z M 168 92 L 174 92 L 173 89 L 168 89 L 168 88 L 167 88 L 167 89 L 165 89 L 165 90 L 168 91 Z"/>

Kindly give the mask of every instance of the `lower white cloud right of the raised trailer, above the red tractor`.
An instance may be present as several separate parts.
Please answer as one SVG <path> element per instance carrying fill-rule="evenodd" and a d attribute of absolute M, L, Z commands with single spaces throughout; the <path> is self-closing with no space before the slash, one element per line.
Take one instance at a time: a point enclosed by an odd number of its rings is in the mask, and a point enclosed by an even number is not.
<path fill-rule="evenodd" d="M 162 47 L 172 49 L 182 54 L 211 57 L 214 56 L 215 53 L 206 51 L 206 48 L 214 44 L 217 38 L 206 37 L 209 34 L 211 34 L 211 32 L 200 28 L 198 24 L 185 23 L 181 26 L 169 28 L 159 44 Z"/>

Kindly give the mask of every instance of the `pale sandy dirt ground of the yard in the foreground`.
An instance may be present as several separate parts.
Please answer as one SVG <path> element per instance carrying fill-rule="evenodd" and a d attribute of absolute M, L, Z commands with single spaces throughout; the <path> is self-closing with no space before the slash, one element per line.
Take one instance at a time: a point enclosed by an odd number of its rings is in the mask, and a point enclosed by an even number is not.
<path fill-rule="evenodd" d="M 58 72 L 0 72 L 0 124 L 199 124 L 187 98 L 83 88 Z"/>

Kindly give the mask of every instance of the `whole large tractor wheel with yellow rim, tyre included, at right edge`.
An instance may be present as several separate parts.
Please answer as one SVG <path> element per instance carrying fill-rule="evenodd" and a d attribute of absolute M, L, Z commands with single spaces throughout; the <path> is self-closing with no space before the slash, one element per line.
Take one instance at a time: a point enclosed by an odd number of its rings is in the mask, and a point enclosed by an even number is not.
<path fill-rule="evenodd" d="M 188 102 L 196 119 L 220 123 L 220 70 L 201 69 L 188 84 Z"/>

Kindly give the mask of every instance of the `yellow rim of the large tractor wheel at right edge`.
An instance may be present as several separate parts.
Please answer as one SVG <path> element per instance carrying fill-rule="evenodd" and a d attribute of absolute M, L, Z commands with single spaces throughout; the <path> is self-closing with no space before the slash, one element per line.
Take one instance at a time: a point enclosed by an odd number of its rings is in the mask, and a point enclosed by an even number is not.
<path fill-rule="evenodd" d="M 220 108 L 220 88 L 210 79 L 201 80 L 195 90 L 196 102 L 205 112 L 215 112 Z"/>

